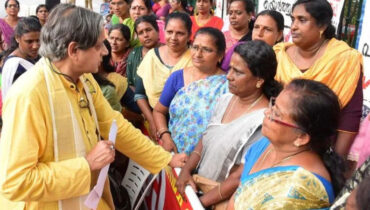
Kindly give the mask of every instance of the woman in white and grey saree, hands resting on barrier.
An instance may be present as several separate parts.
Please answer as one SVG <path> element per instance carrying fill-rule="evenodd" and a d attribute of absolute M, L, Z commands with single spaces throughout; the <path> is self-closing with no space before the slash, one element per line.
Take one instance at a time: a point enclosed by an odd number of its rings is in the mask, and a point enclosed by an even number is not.
<path fill-rule="evenodd" d="M 230 93 L 219 99 L 202 139 L 182 168 L 176 183 L 182 195 L 185 186 L 194 186 L 198 179 L 213 182 L 209 191 L 199 185 L 205 193 L 200 197 L 205 207 L 229 199 L 234 193 L 243 154 L 262 137 L 263 112 L 269 98 L 281 89 L 274 80 L 276 66 L 275 53 L 262 41 L 236 47 L 227 74 Z M 191 172 L 196 168 L 198 176 L 193 179 Z"/>

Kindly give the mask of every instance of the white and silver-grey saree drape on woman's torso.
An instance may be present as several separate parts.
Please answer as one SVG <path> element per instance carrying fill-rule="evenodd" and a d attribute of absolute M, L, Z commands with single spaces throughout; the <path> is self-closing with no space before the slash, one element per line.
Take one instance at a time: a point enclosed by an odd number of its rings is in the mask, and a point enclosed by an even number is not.
<path fill-rule="evenodd" d="M 202 155 L 198 174 L 217 182 L 224 181 L 235 165 L 240 165 L 245 151 L 261 139 L 264 108 L 245 113 L 228 123 L 222 118 L 233 94 L 221 96 L 202 136 Z"/>

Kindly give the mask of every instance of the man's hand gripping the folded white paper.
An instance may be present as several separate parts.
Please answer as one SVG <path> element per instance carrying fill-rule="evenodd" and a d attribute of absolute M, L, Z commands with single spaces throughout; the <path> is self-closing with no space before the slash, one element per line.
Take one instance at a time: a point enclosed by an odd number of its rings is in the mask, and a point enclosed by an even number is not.
<path fill-rule="evenodd" d="M 99 141 L 98 144 L 86 155 L 90 170 L 102 169 L 104 166 L 114 161 L 115 150 L 113 142 Z"/>

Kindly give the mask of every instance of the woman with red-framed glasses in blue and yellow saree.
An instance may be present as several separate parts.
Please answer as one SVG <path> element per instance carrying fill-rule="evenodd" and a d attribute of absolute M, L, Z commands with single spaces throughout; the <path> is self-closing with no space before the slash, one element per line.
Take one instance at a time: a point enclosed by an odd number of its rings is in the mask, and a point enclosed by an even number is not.
<path fill-rule="evenodd" d="M 265 137 L 245 156 L 235 209 L 328 208 L 344 183 L 344 161 L 330 148 L 339 113 L 335 93 L 312 80 L 295 79 L 271 98 Z"/>

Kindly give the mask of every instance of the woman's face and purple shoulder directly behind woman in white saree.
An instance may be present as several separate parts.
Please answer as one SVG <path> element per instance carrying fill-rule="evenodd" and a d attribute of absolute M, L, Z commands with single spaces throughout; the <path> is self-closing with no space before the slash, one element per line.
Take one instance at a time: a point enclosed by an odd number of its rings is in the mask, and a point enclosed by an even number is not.
<path fill-rule="evenodd" d="M 264 10 L 257 14 L 252 31 L 252 40 L 261 40 L 270 46 L 283 41 L 284 17 L 280 12 L 274 10 Z M 245 40 L 244 40 L 245 39 Z M 248 37 L 239 40 L 235 45 L 229 48 L 222 61 L 221 68 L 224 71 L 229 69 L 230 59 L 238 44 L 248 41 Z"/>

